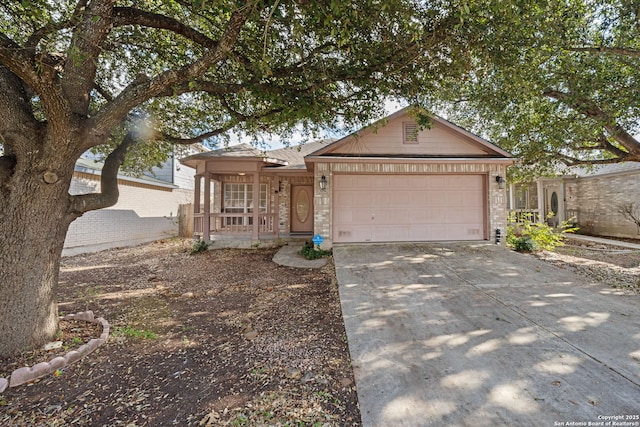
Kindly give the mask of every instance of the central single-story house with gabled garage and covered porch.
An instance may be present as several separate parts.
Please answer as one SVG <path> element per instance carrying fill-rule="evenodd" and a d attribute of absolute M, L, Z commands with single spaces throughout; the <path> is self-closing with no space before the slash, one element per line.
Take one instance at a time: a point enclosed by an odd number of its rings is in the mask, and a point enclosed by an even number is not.
<path fill-rule="evenodd" d="M 496 240 L 506 228 L 506 151 L 403 109 L 337 141 L 261 152 L 241 144 L 182 159 L 196 169 L 196 235 L 252 242 Z M 203 231 L 205 230 L 205 231 Z"/>

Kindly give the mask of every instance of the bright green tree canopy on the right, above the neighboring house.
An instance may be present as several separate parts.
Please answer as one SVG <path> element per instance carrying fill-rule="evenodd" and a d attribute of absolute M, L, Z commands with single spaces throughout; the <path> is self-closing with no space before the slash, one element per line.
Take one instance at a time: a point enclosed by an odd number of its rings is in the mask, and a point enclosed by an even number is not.
<path fill-rule="evenodd" d="M 472 71 L 446 78 L 432 105 L 520 157 L 520 174 L 640 161 L 637 4 L 470 5 L 468 27 L 484 28 Z"/>

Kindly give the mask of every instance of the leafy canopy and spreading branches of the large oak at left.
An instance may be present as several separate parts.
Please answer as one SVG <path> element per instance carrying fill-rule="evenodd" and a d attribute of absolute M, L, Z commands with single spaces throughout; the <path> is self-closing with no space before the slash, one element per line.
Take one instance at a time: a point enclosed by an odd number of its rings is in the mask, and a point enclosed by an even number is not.
<path fill-rule="evenodd" d="M 76 114 L 93 128 L 79 148 L 105 155 L 138 125 L 130 165 L 230 129 L 364 123 L 459 49 L 457 9 L 439 2 L 25 0 L 0 14 L 31 121 Z"/>

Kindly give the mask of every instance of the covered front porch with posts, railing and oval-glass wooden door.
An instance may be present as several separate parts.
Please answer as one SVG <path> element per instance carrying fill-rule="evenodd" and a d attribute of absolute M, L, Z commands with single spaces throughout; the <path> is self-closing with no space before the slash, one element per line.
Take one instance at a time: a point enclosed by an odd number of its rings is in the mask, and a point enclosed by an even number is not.
<path fill-rule="evenodd" d="M 241 144 L 189 156 L 194 237 L 244 246 L 313 234 L 313 174 Z"/>

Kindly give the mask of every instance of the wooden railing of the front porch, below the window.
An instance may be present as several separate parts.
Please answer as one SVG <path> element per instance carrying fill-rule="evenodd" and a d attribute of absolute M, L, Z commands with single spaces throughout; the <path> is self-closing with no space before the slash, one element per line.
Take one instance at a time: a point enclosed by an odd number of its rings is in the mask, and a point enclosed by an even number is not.
<path fill-rule="evenodd" d="M 274 214 L 258 214 L 258 233 L 273 233 Z M 193 214 L 193 232 L 203 234 L 204 214 Z M 209 233 L 251 234 L 253 233 L 253 214 L 211 213 L 209 214 Z"/>

